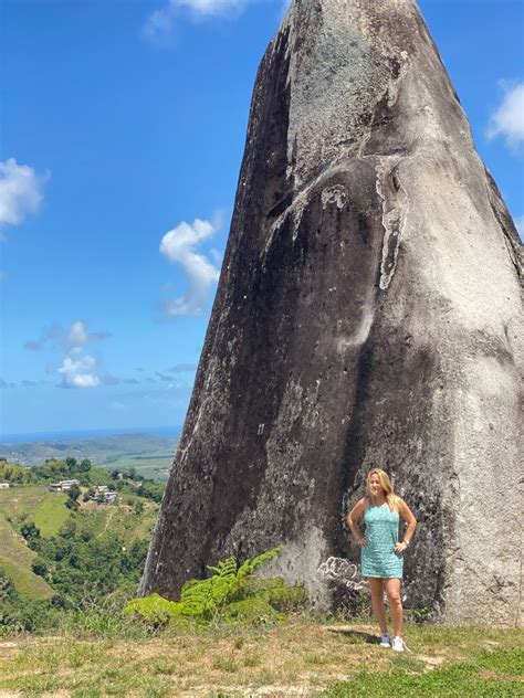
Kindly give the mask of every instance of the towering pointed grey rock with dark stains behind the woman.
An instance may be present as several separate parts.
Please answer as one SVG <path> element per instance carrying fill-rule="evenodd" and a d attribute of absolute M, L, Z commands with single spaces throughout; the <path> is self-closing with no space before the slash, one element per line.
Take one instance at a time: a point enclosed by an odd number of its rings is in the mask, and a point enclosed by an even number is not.
<path fill-rule="evenodd" d="M 295 0 L 254 87 L 228 250 L 140 593 L 284 542 L 333 590 L 371 466 L 405 591 L 518 624 L 520 242 L 411 0 Z"/>

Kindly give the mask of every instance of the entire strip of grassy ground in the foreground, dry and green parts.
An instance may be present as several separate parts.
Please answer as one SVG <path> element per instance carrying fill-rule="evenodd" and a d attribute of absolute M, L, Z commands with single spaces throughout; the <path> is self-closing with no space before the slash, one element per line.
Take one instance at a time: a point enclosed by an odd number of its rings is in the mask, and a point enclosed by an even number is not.
<path fill-rule="evenodd" d="M 0 695 L 230 697 L 265 688 L 264 695 L 323 698 L 524 696 L 522 632 L 406 631 L 412 654 L 404 655 L 374 642 L 350 642 L 371 639 L 370 626 L 323 626 L 305 618 L 265 631 L 229 628 L 229 634 L 218 627 L 111 638 L 85 630 L 54 632 L 49 638 L 0 642 Z"/>

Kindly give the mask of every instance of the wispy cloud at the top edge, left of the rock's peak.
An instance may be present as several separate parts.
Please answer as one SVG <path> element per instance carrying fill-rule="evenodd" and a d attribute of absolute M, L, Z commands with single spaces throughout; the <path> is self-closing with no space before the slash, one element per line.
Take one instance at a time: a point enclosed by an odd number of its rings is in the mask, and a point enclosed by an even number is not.
<path fill-rule="evenodd" d="M 147 19 L 143 34 L 146 39 L 164 43 L 174 32 L 176 17 L 188 12 L 193 20 L 240 14 L 255 0 L 169 0 Z"/>

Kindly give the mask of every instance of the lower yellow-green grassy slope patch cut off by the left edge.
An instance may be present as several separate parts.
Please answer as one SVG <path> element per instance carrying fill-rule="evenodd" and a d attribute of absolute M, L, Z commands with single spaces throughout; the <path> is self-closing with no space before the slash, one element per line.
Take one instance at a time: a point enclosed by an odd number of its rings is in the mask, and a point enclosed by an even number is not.
<path fill-rule="evenodd" d="M 24 540 L 0 517 L 0 569 L 23 596 L 32 601 L 51 599 L 55 592 L 31 570 L 35 557 L 36 553 L 30 550 Z"/>

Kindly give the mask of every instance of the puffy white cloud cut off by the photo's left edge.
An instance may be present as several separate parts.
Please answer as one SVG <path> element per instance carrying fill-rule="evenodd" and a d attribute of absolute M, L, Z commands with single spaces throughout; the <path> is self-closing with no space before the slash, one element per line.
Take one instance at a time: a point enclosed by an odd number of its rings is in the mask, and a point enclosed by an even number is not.
<path fill-rule="evenodd" d="M 48 179 L 49 173 L 39 176 L 14 158 L 0 162 L 0 225 L 19 225 L 29 213 L 36 213 Z"/>

